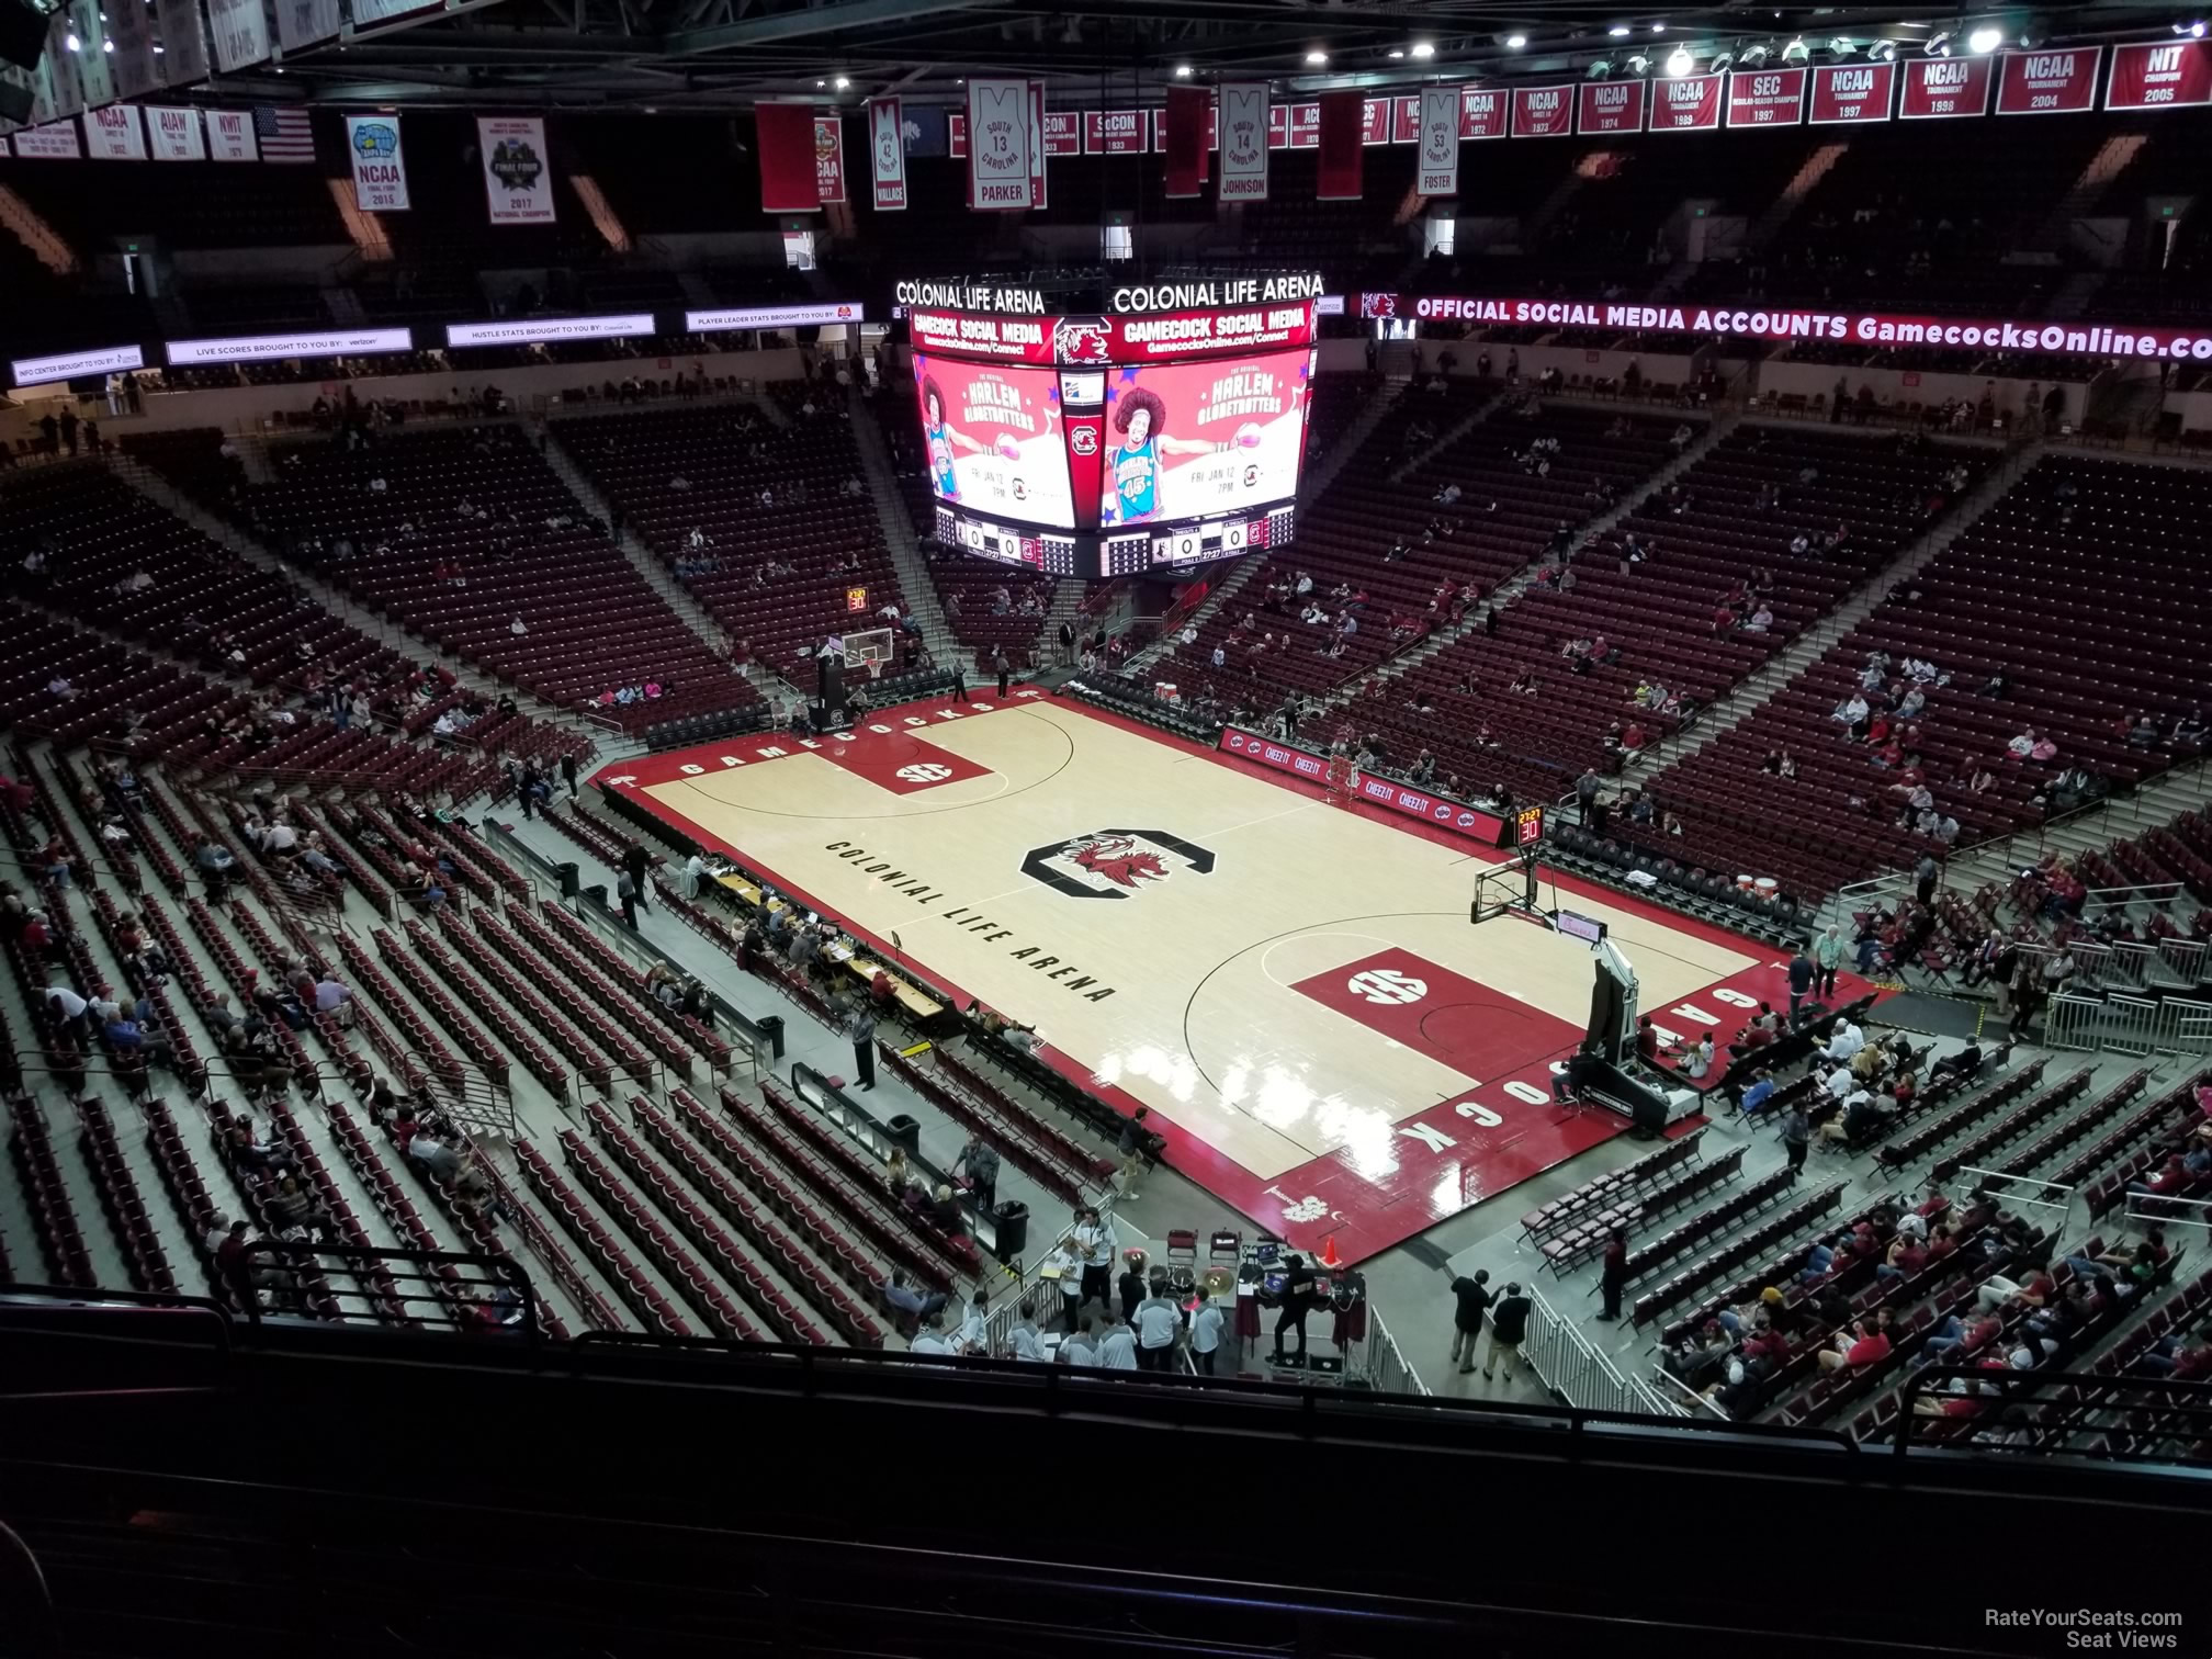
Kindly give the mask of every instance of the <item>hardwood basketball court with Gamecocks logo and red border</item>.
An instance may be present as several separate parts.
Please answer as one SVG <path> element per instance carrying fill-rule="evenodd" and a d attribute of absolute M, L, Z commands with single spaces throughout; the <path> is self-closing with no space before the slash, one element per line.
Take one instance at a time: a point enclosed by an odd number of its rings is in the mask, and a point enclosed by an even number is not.
<path fill-rule="evenodd" d="M 1548 1066 L 1590 1020 L 1590 947 L 1475 927 L 1464 838 L 1088 706 L 911 703 L 606 768 L 1121 1110 L 1296 1245 L 1356 1261 L 1610 1139 Z M 1725 1042 L 1787 995 L 1772 949 L 1546 874 L 1604 920 L 1661 1026 Z M 1854 987 L 1847 987 L 1856 989 Z"/>

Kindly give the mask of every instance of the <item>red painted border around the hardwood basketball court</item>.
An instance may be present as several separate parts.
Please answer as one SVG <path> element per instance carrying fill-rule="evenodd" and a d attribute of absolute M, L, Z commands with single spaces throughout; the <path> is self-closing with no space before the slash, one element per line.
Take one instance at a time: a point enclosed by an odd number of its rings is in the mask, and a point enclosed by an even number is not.
<path fill-rule="evenodd" d="M 1035 688 L 1026 688 L 1035 690 Z M 978 699 L 982 701 L 982 699 Z M 1042 697 L 1020 697 L 1011 695 L 1004 703 L 991 701 L 984 708 L 973 703 L 960 710 L 962 719 L 987 719 L 989 714 L 1022 708 L 1024 703 L 1042 701 Z M 1358 812 L 1360 816 L 1385 823 L 1398 834 L 1420 836 L 1436 845 L 1449 847 L 1462 854 L 1464 863 L 1480 865 L 1502 865 L 1511 860 L 1506 849 L 1495 849 L 1495 856 L 1484 856 L 1489 849 L 1480 849 L 1467 841 L 1467 836 L 1440 830 L 1431 823 L 1407 818 L 1398 812 L 1385 812 L 1383 807 L 1371 807 L 1358 801 L 1343 801 L 1332 796 L 1332 792 L 1321 783 L 1307 783 L 1305 779 L 1292 776 L 1287 772 L 1274 772 L 1265 768 L 1254 768 L 1237 757 L 1223 754 L 1212 748 L 1201 748 L 1188 739 L 1179 739 L 1159 728 L 1146 726 L 1144 721 L 1133 721 L 1128 717 L 1115 714 L 1113 710 L 1097 708 L 1093 703 L 1066 701 L 1084 719 L 1097 719 L 1108 726 L 1119 726 L 1126 732 L 1135 732 L 1161 748 L 1172 750 L 1179 757 L 1197 757 L 1212 765 L 1228 768 L 1241 776 L 1259 776 L 1279 790 L 1292 790 L 1316 801 L 1332 801 L 1340 812 Z M 920 699 L 911 703 L 896 703 L 889 708 L 878 708 L 869 712 L 869 721 L 878 723 L 885 719 L 909 717 L 918 710 L 949 710 L 958 708 L 945 699 Z M 929 730 L 951 721 L 931 719 L 925 728 Z M 737 768 L 719 765 L 719 757 L 737 750 L 759 750 L 759 748 L 783 748 L 792 754 L 814 752 L 827 748 L 836 739 L 814 739 L 812 750 L 799 739 L 779 732 L 754 732 L 743 739 L 723 743 L 699 743 L 686 750 L 668 750 L 664 754 L 641 754 L 630 761 L 617 761 L 599 768 L 591 774 L 593 783 L 606 785 L 604 779 L 626 776 L 630 787 L 653 787 L 659 783 L 675 783 L 686 776 L 710 776 L 717 772 L 728 772 Z M 856 741 L 856 739 L 854 739 Z M 706 754 L 714 757 L 714 763 L 686 761 L 686 757 Z M 681 768 L 701 765 L 697 774 L 684 772 Z M 752 761 L 754 765 L 765 761 Z M 624 787 L 624 794 L 630 794 Z M 863 940 L 874 953 L 894 962 L 902 971 L 911 973 L 916 980 L 933 987 L 942 998 L 949 998 L 956 1006 L 964 1006 L 971 993 L 958 982 L 936 969 L 925 960 L 914 958 L 900 949 L 894 949 L 887 940 L 878 938 L 865 927 L 858 927 L 847 916 L 838 914 L 834 905 L 823 905 L 816 896 L 807 894 L 803 887 L 785 880 L 779 872 L 763 865 L 752 854 L 741 852 L 721 836 L 708 832 L 703 825 L 692 823 L 681 812 L 666 807 L 659 801 L 633 796 L 639 807 L 653 812 L 655 816 L 677 823 L 686 834 L 697 838 L 706 847 L 714 847 L 734 863 L 743 865 L 770 887 L 781 894 L 790 894 L 801 900 L 807 909 L 834 916 L 838 925 Z M 1548 872 L 1553 874 L 1553 872 Z M 1708 998 L 1714 989 L 1730 989 L 1739 998 L 1752 1000 L 1787 1000 L 1787 975 L 1783 973 L 1783 962 L 1772 960 L 1770 947 L 1759 940 L 1745 938 L 1741 933 L 1730 933 L 1721 927 L 1703 922 L 1694 916 L 1683 916 L 1679 911 L 1650 905 L 1635 898 L 1632 894 L 1619 894 L 1610 887 L 1597 887 L 1577 876 L 1555 876 L 1553 885 L 1557 891 L 1575 894 L 1582 898 L 1595 898 L 1615 909 L 1641 916 L 1646 920 L 1661 922 L 1663 927 L 1703 938 L 1708 942 L 1725 945 L 1732 951 L 1763 958 L 1754 960 L 1752 967 L 1719 980 L 1703 991 L 1694 991 L 1683 1002 L 1694 1002 L 1697 998 Z M 1504 918 L 1502 918 L 1504 920 Z M 1502 925 L 1502 922 L 1500 922 Z M 1522 922 L 1526 925 L 1526 922 Z M 1856 975 L 1840 975 L 1838 980 L 1838 1002 L 1851 1002 L 1876 987 L 1858 980 Z M 1659 1013 L 1657 1009 L 1646 1009 L 1648 1013 Z M 1741 1024 L 1741 1020 L 1736 1022 Z M 1734 1029 L 1723 1024 L 1723 1042 L 1734 1035 Z M 1068 1077 L 1077 1086 L 1091 1091 L 1095 1097 L 1104 1099 L 1119 1113 L 1133 1113 L 1139 1102 L 1128 1095 L 1117 1084 L 1106 1084 L 1097 1079 L 1091 1068 L 1077 1057 L 1062 1053 L 1060 1048 L 1044 1044 L 1040 1057 L 1048 1062 L 1062 1077 Z M 1172 1124 L 1155 1110 L 1148 1124 L 1166 1139 L 1164 1159 L 1170 1168 L 1190 1177 L 1208 1192 L 1250 1217 L 1259 1225 L 1267 1228 L 1274 1237 L 1285 1239 L 1292 1248 L 1318 1252 L 1334 1239 L 1338 1256 L 1347 1263 L 1363 1261 L 1365 1256 L 1378 1254 L 1394 1243 L 1402 1243 L 1427 1228 L 1444 1221 L 1460 1210 L 1467 1210 L 1482 1199 L 1495 1197 L 1511 1186 L 1540 1175 L 1564 1159 L 1582 1152 L 1599 1141 L 1608 1141 L 1615 1135 L 1628 1130 L 1626 1119 L 1613 1117 L 1604 1110 L 1577 1110 L 1559 1108 L 1548 1104 L 1551 1086 L 1551 1060 L 1555 1055 L 1544 1055 L 1540 1062 L 1524 1066 L 1509 1077 L 1491 1077 L 1475 1088 L 1453 1097 L 1442 1099 L 1433 1106 L 1422 1108 L 1394 1126 L 1394 1150 L 1398 1152 L 1398 1164 L 1385 1172 L 1371 1172 L 1356 1168 L 1354 1159 L 1345 1148 L 1325 1152 L 1307 1164 L 1283 1170 L 1274 1179 L 1263 1179 L 1252 1170 L 1237 1164 L 1228 1152 L 1214 1148 L 1212 1144 L 1199 1139 L 1188 1128 Z M 1537 1117 L 1542 1115 L 1542 1117 Z M 1526 1119 L 1526 1121 L 1520 1121 Z M 1506 1128 L 1511 1130 L 1502 1139 L 1491 1139 L 1489 1130 Z M 1524 1141 L 1533 1141 L 1524 1146 Z M 1464 1150 L 1462 1150 L 1464 1148 Z M 1416 1164 L 1416 1157 L 1427 1152 L 1429 1161 Z M 1440 1164 L 1438 1159 L 1451 1159 L 1451 1164 Z M 1509 1179 L 1489 1179 L 1493 1175 L 1504 1175 Z M 1387 1179 L 1387 1183 L 1385 1183 Z M 1340 1208 L 1340 1206 L 1354 1208 Z"/>

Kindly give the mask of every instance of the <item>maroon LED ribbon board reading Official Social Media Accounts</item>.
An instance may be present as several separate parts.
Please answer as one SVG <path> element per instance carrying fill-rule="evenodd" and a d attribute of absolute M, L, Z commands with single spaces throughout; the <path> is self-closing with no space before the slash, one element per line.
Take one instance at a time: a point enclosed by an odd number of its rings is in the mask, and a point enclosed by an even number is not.
<path fill-rule="evenodd" d="M 1462 294 L 1360 294 L 1363 316 L 1500 327 L 1617 327 L 1736 341 L 1840 341 L 1847 345 L 1960 345 L 2066 356 L 2143 356 L 2212 363 L 2212 330 L 2048 323 L 2039 319 L 1902 316 L 1893 312 L 1803 312 L 1721 305 L 1613 305 L 1571 299 L 1478 299 Z"/>

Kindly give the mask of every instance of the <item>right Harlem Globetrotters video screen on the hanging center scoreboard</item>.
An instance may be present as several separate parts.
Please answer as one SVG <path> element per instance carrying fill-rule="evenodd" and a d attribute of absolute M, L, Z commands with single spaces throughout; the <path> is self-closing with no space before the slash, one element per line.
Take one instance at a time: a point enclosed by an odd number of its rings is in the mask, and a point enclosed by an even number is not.
<path fill-rule="evenodd" d="M 1312 352 L 1115 369 L 1106 383 L 1099 529 L 1292 500 L 1312 376 Z"/>

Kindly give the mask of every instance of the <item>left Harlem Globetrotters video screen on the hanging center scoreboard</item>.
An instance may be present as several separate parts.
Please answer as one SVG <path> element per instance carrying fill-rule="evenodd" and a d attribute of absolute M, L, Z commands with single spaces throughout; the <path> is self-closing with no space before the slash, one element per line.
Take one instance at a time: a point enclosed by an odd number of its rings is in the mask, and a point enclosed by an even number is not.
<path fill-rule="evenodd" d="M 940 502 L 1075 529 L 1053 369 L 916 352 L 914 396 L 929 449 L 929 491 Z"/>

